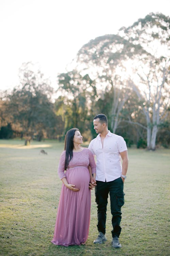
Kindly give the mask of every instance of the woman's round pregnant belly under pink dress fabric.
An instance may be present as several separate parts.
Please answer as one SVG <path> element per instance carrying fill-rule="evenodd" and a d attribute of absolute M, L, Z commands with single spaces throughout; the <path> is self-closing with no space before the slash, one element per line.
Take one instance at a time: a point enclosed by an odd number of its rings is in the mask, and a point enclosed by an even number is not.
<path fill-rule="evenodd" d="M 66 172 L 66 178 L 69 184 L 75 185 L 76 189 L 87 188 L 90 182 L 88 168 L 76 167 Z"/>

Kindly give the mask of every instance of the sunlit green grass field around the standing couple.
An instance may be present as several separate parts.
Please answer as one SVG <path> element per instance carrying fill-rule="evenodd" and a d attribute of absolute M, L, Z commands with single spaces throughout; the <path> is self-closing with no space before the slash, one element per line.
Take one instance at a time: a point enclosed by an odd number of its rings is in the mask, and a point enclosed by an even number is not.
<path fill-rule="evenodd" d="M 130 148 L 124 183 L 121 249 L 111 247 L 108 204 L 104 244 L 97 237 L 97 207 L 91 191 L 91 222 L 86 245 L 55 246 L 55 218 L 62 182 L 57 165 L 63 143 L 0 140 L 0 256 L 169 256 L 170 150 Z M 40 150 L 47 155 L 39 154 Z"/>

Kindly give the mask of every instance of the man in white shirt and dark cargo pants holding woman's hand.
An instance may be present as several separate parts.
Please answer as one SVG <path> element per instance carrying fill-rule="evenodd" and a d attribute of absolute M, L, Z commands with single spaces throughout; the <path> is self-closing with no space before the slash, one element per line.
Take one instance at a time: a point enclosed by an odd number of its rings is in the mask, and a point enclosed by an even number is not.
<path fill-rule="evenodd" d="M 107 127 L 107 117 L 99 114 L 94 118 L 94 129 L 98 136 L 89 144 L 89 149 L 97 157 L 96 184 L 90 183 L 91 188 L 95 187 L 96 203 L 98 208 L 98 231 L 99 235 L 94 243 L 106 241 L 106 208 L 107 198 L 110 195 L 112 213 L 112 246 L 122 247 L 119 242 L 121 232 L 121 206 L 124 204 L 123 183 L 128 170 L 128 152 L 126 142 L 121 136 L 111 133 Z M 122 159 L 122 165 L 120 160 Z"/>

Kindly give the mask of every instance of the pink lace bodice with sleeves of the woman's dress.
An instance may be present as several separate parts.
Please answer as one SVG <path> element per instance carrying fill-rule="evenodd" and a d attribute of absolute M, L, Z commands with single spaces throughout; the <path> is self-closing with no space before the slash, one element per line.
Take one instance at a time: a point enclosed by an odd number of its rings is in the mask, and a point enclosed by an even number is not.
<path fill-rule="evenodd" d="M 65 157 L 66 157 L 66 151 L 63 151 L 60 156 L 60 161 L 58 164 L 58 175 L 60 179 L 63 179 L 64 177 L 66 177 L 64 173 Z M 73 158 L 71 159 L 67 169 L 74 168 L 77 166 L 88 168 L 88 165 L 91 166 L 92 174 L 96 173 L 96 163 L 95 163 L 94 156 L 89 149 L 84 148 L 80 152 L 73 152 Z"/>

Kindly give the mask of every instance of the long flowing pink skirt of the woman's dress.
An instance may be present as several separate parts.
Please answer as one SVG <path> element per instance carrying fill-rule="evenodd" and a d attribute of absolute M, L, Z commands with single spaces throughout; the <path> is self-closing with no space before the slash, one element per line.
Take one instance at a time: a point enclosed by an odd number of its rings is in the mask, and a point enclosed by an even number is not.
<path fill-rule="evenodd" d="M 69 184 L 78 192 L 62 185 L 58 204 L 54 237 L 55 245 L 80 245 L 88 238 L 90 225 L 91 192 L 88 188 L 90 175 L 87 167 L 75 167 L 66 171 Z"/>

